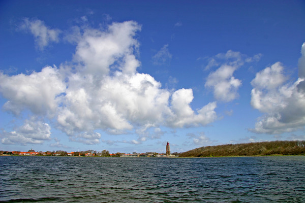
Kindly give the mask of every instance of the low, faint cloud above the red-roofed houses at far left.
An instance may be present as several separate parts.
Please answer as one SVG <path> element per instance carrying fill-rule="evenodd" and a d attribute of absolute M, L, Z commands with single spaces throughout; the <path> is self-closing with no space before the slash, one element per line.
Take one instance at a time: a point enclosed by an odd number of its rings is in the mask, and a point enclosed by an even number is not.
<path fill-rule="evenodd" d="M 51 138 L 51 127 L 42 121 L 36 121 L 35 118 L 25 120 L 24 124 L 15 131 L 2 132 L 4 137 L 1 142 L 3 144 L 42 144 Z"/>

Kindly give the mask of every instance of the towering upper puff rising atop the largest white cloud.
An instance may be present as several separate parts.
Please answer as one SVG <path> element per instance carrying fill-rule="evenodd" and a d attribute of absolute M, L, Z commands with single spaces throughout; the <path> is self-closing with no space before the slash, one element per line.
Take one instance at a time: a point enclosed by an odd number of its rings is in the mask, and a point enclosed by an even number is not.
<path fill-rule="evenodd" d="M 140 63 L 133 55 L 139 46 L 134 37 L 140 29 L 134 21 L 112 23 L 107 31 L 86 29 L 76 47 L 75 60 L 84 63 L 87 74 L 107 75 L 111 67 L 135 73 Z"/>

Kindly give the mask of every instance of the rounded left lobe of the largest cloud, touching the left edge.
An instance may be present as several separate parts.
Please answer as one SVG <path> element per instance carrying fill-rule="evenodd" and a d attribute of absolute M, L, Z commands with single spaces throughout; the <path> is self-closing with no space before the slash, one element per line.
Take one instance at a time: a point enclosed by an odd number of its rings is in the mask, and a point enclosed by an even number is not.
<path fill-rule="evenodd" d="M 60 103 L 59 94 L 66 85 L 56 67 L 46 66 L 30 75 L 4 75 L 0 72 L 0 92 L 9 99 L 4 109 L 20 114 L 24 109 L 34 114 L 54 113 Z"/>

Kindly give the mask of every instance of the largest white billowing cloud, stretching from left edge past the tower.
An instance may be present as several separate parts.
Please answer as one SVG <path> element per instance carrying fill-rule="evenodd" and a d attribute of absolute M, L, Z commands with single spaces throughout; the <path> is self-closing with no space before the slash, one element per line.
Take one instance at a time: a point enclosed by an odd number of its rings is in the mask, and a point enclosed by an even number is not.
<path fill-rule="evenodd" d="M 160 136 L 159 126 L 203 126 L 215 121 L 216 103 L 194 111 L 192 89 L 172 92 L 152 76 L 137 72 L 135 36 L 140 28 L 134 21 L 103 29 L 86 27 L 76 33 L 77 47 L 69 65 L 47 66 L 29 75 L 1 73 L 0 92 L 9 100 L 4 109 L 15 115 L 31 110 L 33 115 L 47 116 L 71 141 L 85 144 L 100 142 L 98 129 L 109 134 L 135 130 L 144 136 L 130 143 L 140 144 L 151 127 Z M 168 51 L 167 45 L 163 48 Z"/>

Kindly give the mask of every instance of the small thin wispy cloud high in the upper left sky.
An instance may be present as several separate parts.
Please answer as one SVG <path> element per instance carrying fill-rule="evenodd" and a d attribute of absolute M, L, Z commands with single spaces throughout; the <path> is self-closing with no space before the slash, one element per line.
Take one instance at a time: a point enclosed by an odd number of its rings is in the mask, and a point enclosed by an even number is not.
<path fill-rule="evenodd" d="M 21 29 L 30 31 L 35 38 L 35 42 L 40 50 L 48 46 L 50 42 L 58 42 L 58 35 L 61 32 L 59 29 L 51 29 L 41 20 L 29 20 L 25 18 Z"/>

